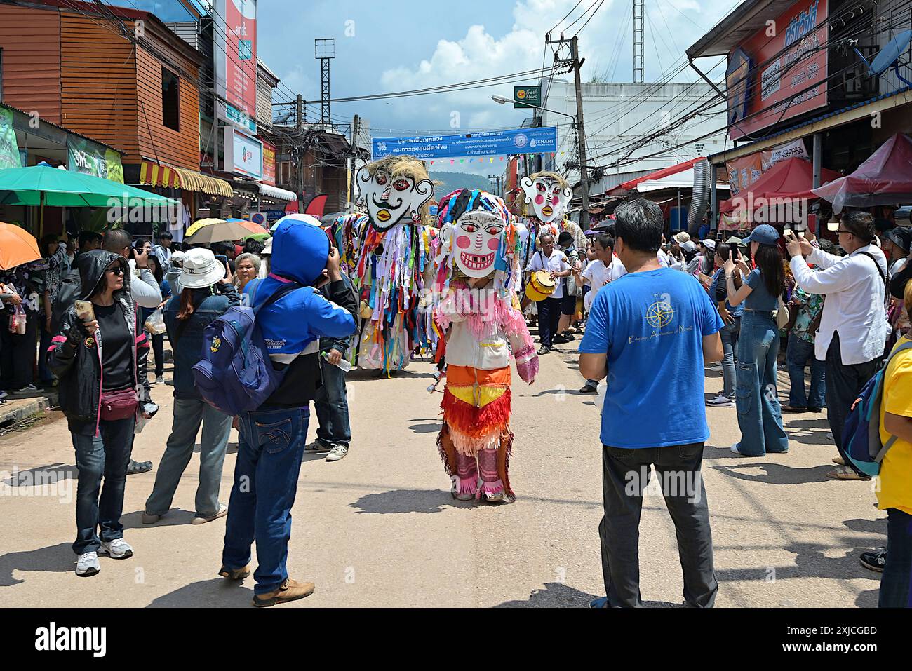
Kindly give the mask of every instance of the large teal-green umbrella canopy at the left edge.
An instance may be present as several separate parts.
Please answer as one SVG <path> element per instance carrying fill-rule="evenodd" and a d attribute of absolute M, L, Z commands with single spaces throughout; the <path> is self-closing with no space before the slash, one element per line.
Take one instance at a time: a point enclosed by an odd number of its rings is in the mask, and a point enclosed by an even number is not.
<path fill-rule="evenodd" d="M 110 207 L 111 199 L 140 199 L 148 205 L 180 204 L 129 184 L 49 165 L 0 170 L 0 205 Z"/>

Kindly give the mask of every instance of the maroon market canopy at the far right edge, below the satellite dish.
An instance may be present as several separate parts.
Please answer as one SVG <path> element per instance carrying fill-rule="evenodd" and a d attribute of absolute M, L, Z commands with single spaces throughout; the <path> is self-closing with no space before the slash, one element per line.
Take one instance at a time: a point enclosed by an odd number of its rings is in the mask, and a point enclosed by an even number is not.
<path fill-rule="evenodd" d="M 814 194 L 832 202 L 834 212 L 912 201 L 912 139 L 896 133 L 855 172 L 814 189 Z"/>

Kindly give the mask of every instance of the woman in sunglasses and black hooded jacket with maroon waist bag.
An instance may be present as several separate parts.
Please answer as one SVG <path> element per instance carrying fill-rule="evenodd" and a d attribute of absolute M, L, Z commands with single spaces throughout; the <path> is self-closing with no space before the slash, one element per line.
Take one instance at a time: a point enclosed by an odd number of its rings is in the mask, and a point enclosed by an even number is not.
<path fill-rule="evenodd" d="M 61 318 L 48 365 L 60 380 L 60 408 L 76 449 L 73 552 L 77 575 L 88 576 L 100 569 L 98 554 L 133 554 L 120 523 L 131 438 L 140 415 L 150 418 L 158 406 L 149 397 L 149 343 L 125 282 L 127 260 L 93 250 L 78 265 L 82 300 Z"/>

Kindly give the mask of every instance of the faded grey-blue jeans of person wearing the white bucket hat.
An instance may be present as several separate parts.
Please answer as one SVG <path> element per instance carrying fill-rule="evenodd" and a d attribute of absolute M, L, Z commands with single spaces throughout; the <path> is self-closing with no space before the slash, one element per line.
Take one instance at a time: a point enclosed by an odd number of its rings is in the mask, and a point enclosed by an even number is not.
<path fill-rule="evenodd" d="M 196 516 L 212 517 L 219 511 L 219 485 L 225 448 L 231 434 L 231 415 L 212 408 L 202 399 L 175 398 L 171 436 L 161 456 L 155 486 L 146 500 L 146 512 L 163 515 L 171 509 L 174 492 L 193 455 L 196 434 L 200 439 L 200 484 L 196 488 Z"/>

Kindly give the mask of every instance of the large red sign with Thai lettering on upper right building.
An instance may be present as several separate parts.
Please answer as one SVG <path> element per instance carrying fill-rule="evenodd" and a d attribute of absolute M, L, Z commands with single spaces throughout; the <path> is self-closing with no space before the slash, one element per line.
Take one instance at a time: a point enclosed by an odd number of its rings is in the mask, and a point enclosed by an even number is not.
<path fill-rule="evenodd" d="M 745 54 L 755 65 L 747 87 L 746 118 L 735 120 L 729 130 L 731 139 L 826 105 L 827 3 L 828 0 L 795 3 L 776 18 L 775 26 L 762 27 L 732 50 L 730 72 L 735 71 L 733 59 L 743 62 Z M 739 87 L 732 84 L 738 82 L 730 80 L 730 98 L 740 93 Z"/>

